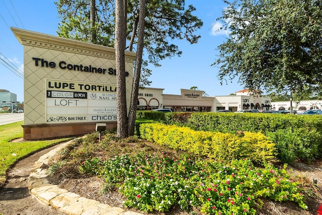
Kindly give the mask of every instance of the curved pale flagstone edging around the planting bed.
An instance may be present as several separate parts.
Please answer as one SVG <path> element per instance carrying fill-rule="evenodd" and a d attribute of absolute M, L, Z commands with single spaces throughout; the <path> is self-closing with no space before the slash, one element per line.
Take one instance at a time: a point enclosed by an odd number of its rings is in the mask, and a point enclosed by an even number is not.
<path fill-rule="evenodd" d="M 70 140 L 73 141 L 73 140 Z M 59 211 L 72 215 L 109 214 L 109 215 L 139 215 L 142 213 L 125 211 L 120 207 L 112 207 L 99 201 L 82 197 L 76 193 L 68 192 L 57 185 L 49 183 L 47 177 L 48 164 L 51 158 L 61 149 L 67 147 L 70 141 L 41 156 L 35 162 L 28 177 L 29 192 L 38 201 L 56 208 Z"/>

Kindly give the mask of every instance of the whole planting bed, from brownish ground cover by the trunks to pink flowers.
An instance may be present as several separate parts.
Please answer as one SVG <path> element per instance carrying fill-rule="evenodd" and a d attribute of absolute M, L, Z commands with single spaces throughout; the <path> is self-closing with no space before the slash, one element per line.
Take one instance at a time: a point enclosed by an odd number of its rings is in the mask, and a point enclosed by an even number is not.
<path fill-rule="evenodd" d="M 54 175 L 72 168 L 83 176 L 97 175 L 104 179 L 102 193 L 118 187 L 124 206 L 143 211 L 180 207 L 188 212 L 194 208 L 194 213 L 197 208 L 198 214 L 257 214 L 267 200 L 297 202 L 296 210 L 304 211 L 305 198 L 312 195 L 289 170 L 272 163 L 256 167 L 247 159 L 211 161 L 137 137 L 120 142 L 109 133 L 101 142 L 95 134 L 76 139 L 59 160 L 51 167 Z"/>

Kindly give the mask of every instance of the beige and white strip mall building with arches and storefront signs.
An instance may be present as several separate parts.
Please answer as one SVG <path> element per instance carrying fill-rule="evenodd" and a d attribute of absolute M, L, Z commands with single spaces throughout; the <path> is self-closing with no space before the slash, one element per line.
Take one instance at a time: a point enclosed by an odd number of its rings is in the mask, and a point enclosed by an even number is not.
<path fill-rule="evenodd" d="M 164 89 L 139 90 L 138 110 L 169 108 L 172 111 L 216 112 L 218 110 L 270 110 L 271 98 L 260 91 L 241 90 L 229 96 L 203 96 L 203 91 L 181 89 L 180 95 L 163 94 Z"/>

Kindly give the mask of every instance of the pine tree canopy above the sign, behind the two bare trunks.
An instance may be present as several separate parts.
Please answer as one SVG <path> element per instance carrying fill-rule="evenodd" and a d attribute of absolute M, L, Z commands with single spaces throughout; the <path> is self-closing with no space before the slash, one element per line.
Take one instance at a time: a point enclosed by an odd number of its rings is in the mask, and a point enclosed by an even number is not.
<path fill-rule="evenodd" d="M 91 1 L 95 2 L 95 17 L 91 17 Z M 115 0 L 59 0 L 55 4 L 61 18 L 58 36 L 114 46 Z M 184 0 L 146 0 L 143 77 L 151 73 L 146 68 L 149 63 L 160 66 L 160 60 L 182 54 L 179 47 L 172 43 L 173 40 L 186 39 L 191 44 L 197 43 L 200 36 L 195 35 L 195 32 L 202 27 L 203 22 L 192 15 L 195 10 L 192 5 L 185 7 Z M 129 51 L 135 51 L 137 44 L 138 16 L 139 1 L 127 0 Z M 96 35 L 95 40 L 93 35 Z M 149 84 L 146 79 L 142 81 L 143 85 Z"/>

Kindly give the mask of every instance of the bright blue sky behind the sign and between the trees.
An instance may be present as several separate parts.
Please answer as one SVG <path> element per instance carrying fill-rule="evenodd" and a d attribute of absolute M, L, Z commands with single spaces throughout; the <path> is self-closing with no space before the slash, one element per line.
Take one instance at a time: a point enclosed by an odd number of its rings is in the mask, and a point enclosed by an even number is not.
<path fill-rule="evenodd" d="M 149 87 L 162 88 L 164 94 L 180 95 L 180 89 L 190 89 L 196 86 L 209 96 L 229 95 L 244 87 L 237 81 L 220 86 L 217 74 L 218 68 L 211 66 L 216 59 L 216 48 L 225 40 L 225 32 L 213 31 L 216 18 L 221 15 L 225 5 L 220 0 L 196 1 L 186 0 L 187 5 L 193 5 L 198 16 L 204 23 L 197 34 L 201 35 L 197 44 L 187 41 L 176 41 L 183 51 L 181 57 L 173 57 L 161 61 L 161 67 L 152 69 L 152 81 Z M 23 46 L 18 42 L 10 27 L 36 31 L 56 36 L 60 19 L 54 1 L 44 0 L 10 0 L 0 2 L 0 89 L 17 94 L 17 100 L 24 101 L 24 82 L 4 66 L 4 61 L 12 61 L 23 72 Z M 217 23 L 216 26 L 220 25 Z"/>

